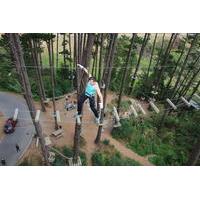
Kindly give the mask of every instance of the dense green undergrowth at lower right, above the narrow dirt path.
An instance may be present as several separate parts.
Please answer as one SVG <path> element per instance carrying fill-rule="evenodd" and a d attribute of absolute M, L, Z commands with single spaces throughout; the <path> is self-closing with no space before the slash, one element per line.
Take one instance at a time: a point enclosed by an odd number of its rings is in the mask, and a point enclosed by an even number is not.
<path fill-rule="evenodd" d="M 133 119 L 132 119 L 133 120 Z M 122 120 L 112 136 L 124 141 L 141 156 L 148 156 L 155 165 L 185 165 L 188 155 L 200 137 L 199 112 L 184 112 L 166 117 L 162 134 L 157 135 L 160 115 L 144 121 Z"/>

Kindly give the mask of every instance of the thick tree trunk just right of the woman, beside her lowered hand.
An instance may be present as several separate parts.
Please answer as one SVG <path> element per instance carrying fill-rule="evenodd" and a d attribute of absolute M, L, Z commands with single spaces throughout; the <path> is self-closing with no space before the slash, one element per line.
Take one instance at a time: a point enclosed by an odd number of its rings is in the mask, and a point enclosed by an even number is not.
<path fill-rule="evenodd" d="M 111 79 L 111 72 L 112 72 L 112 66 L 113 66 L 113 60 L 114 60 L 114 54 L 116 50 L 116 43 L 117 43 L 117 36 L 118 34 L 111 34 L 111 41 L 110 41 L 110 48 L 108 51 L 108 56 L 107 56 L 107 64 L 108 66 L 105 66 L 105 73 L 104 73 L 104 83 L 105 83 L 105 89 L 104 89 L 104 96 L 103 96 L 103 104 L 104 107 L 101 110 L 101 115 L 100 115 L 100 124 L 99 128 L 97 131 L 97 136 L 95 139 L 95 143 L 98 144 L 101 139 L 101 133 L 102 133 L 102 128 L 103 128 L 103 120 L 104 120 L 104 112 L 105 112 L 105 106 L 106 106 L 106 99 L 107 99 L 107 90 L 109 88 L 110 84 L 110 79 Z"/>

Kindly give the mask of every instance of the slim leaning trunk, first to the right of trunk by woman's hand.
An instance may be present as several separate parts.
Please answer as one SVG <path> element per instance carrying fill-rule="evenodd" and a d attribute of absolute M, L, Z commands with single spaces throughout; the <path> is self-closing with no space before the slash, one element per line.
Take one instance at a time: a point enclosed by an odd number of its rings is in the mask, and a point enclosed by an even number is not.
<path fill-rule="evenodd" d="M 128 66 L 129 66 L 129 61 L 131 58 L 131 50 L 133 48 L 134 45 L 134 39 L 135 39 L 135 33 L 133 33 L 132 38 L 131 38 L 131 44 L 128 50 L 128 54 L 127 54 L 127 58 L 126 58 L 126 63 L 125 63 L 125 68 L 124 68 L 124 73 L 123 73 L 123 77 L 122 77 L 122 82 L 121 82 L 121 87 L 120 87 L 120 93 L 119 93 L 119 99 L 118 99 L 118 103 L 117 103 L 117 111 L 119 113 L 120 111 L 120 106 L 121 106 L 121 99 L 122 99 L 122 95 L 123 95 L 123 89 L 124 89 L 124 83 L 127 77 L 127 72 L 128 72 Z"/>

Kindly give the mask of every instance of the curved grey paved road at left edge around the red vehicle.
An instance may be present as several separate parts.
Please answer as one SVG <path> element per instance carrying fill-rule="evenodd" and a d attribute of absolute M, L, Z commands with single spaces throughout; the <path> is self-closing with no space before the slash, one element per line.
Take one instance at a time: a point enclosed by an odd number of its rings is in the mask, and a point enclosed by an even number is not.
<path fill-rule="evenodd" d="M 0 112 L 4 117 L 11 117 L 15 108 L 19 109 L 18 124 L 13 134 L 5 135 L 0 140 L 0 159 L 6 159 L 6 165 L 16 165 L 17 160 L 24 154 L 31 144 L 35 129 L 29 114 L 25 100 L 14 94 L 0 92 Z M 24 120 L 26 119 L 26 120 Z M 2 119 L 1 119 L 2 120 Z M 6 120 L 3 119 L 4 121 Z M 3 129 L 3 127 L 0 127 Z M 18 144 L 20 151 L 17 153 L 15 145 Z M 1 165 L 1 162 L 0 162 Z"/>

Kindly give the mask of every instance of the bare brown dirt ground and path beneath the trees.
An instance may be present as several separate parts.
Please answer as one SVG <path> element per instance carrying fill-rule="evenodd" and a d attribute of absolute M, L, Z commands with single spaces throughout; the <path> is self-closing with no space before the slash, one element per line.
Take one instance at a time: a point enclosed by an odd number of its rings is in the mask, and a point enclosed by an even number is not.
<path fill-rule="evenodd" d="M 107 97 L 107 103 L 110 103 L 113 99 L 116 98 L 116 95 L 114 93 L 109 92 Z M 127 100 L 128 97 L 123 97 L 123 100 Z M 71 95 L 71 100 L 76 100 L 76 95 Z M 59 124 L 62 126 L 64 130 L 63 137 L 60 137 L 58 139 L 51 136 L 51 133 L 54 131 L 54 119 L 52 116 L 52 103 L 49 103 L 49 105 L 46 107 L 47 111 L 44 113 L 41 113 L 40 116 L 40 122 L 42 125 L 42 130 L 44 136 L 49 136 L 50 140 L 52 142 L 52 145 L 61 147 L 64 145 L 67 145 L 68 147 L 73 147 L 73 141 L 74 141 L 74 130 L 75 130 L 75 118 L 74 115 L 76 113 L 76 109 L 72 111 L 66 111 L 64 109 L 64 103 L 65 98 L 61 98 L 56 101 L 56 109 L 60 111 L 60 116 L 62 122 Z M 144 109 L 147 112 L 147 104 L 140 102 Z M 37 109 L 40 109 L 40 104 L 36 103 Z M 109 118 L 109 119 L 108 119 Z M 114 145 L 114 147 L 125 157 L 134 159 L 135 161 L 138 161 L 141 165 L 152 165 L 147 158 L 139 156 L 138 154 L 134 153 L 130 149 L 126 148 L 126 146 L 119 141 L 115 140 L 111 136 L 111 130 L 112 130 L 113 122 L 111 117 L 107 116 L 105 123 L 104 123 L 104 131 L 102 133 L 101 140 L 109 139 L 110 144 Z M 98 126 L 94 123 L 94 116 L 93 113 L 89 110 L 89 106 L 87 103 L 85 103 L 83 108 L 83 122 L 82 122 L 82 133 L 81 137 L 85 140 L 85 145 L 81 147 L 81 150 L 86 153 L 87 162 L 88 165 L 91 165 L 91 156 L 92 153 L 98 148 L 98 145 L 94 143 L 94 140 L 96 138 Z M 33 155 L 37 155 L 39 150 L 35 148 L 36 141 L 33 140 L 31 147 L 26 152 L 26 154 L 23 156 L 21 162 L 24 160 L 27 160 L 28 157 L 31 157 Z M 36 150 L 37 149 L 37 150 Z M 38 161 L 39 162 L 39 161 Z"/>

